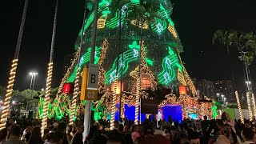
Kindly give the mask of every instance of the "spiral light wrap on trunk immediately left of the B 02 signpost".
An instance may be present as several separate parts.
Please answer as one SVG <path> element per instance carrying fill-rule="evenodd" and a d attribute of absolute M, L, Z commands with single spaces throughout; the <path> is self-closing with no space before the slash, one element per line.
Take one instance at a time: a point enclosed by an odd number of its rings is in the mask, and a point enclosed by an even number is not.
<path fill-rule="evenodd" d="M 78 66 L 75 81 L 74 81 L 74 96 L 72 98 L 71 114 L 70 114 L 70 125 L 74 124 L 74 117 L 76 115 L 75 106 L 78 101 L 79 94 L 79 78 L 80 78 L 80 67 Z"/>

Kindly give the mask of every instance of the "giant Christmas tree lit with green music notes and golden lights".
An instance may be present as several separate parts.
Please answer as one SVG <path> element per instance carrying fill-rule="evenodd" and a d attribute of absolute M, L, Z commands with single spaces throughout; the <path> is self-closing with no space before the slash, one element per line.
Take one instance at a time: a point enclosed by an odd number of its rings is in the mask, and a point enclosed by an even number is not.
<path fill-rule="evenodd" d="M 70 113 L 72 98 L 72 94 L 62 94 L 63 84 L 74 82 L 77 70 L 82 71 L 90 61 L 94 2 L 88 2 L 87 7 L 90 12 L 75 43 L 75 50 L 78 50 L 83 36 L 81 58 L 78 59 L 78 53 L 74 56 L 51 107 L 55 109 L 52 113 L 59 117 Z M 169 89 L 186 86 L 191 96 L 196 95 L 179 56 L 183 49 L 170 18 L 172 8 L 168 0 L 100 0 L 94 63 L 100 66 L 98 92 L 102 98 L 94 102 L 94 110 L 98 111 L 95 118 L 102 118 L 104 112 L 98 109 L 104 106 L 110 107 L 105 113 L 112 112 L 113 117 L 114 103 L 119 102 L 117 86 L 120 82 L 122 102 L 131 105 L 138 105 L 138 99 L 145 95 L 142 90 L 155 90 L 158 85 Z M 112 91 L 111 86 L 115 86 Z"/>

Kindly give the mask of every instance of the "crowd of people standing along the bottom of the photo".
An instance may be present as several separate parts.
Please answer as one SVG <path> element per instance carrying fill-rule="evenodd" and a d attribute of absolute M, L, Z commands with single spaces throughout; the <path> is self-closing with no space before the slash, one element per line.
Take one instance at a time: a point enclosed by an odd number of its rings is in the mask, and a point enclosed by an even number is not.
<path fill-rule="evenodd" d="M 0 131 L 0 144 L 250 144 L 256 143 L 254 121 L 232 120 L 222 113 L 221 119 L 191 120 L 182 122 L 156 121 L 146 119 L 140 125 L 126 119 L 115 121 L 110 130 L 110 122 L 92 122 L 90 133 L 83 138 L 83 122 L 73 126 L 68 120 L 49 120 L 44 134 L 37 119 L 9 119 L 6 128 Z M 42 136 L 43 135 L 43 136 Z"/>

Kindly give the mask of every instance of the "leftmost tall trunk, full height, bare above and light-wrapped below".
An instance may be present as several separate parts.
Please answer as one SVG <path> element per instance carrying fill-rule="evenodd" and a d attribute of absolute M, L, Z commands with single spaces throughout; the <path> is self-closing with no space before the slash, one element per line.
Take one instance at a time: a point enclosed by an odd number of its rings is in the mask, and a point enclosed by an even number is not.
<path fill-rule="evenodd" d="M 19 56 L 19 51 L 22 44 L 22 34 L 23 34 L 24 25 L 26 21 L 26 10 L 27 10 L 28 2 L 29 0 L 25 1 L 25 5 L 23 9 L 22 22 L 18 32 L 18 41 L 17 41 L 16 50 L 14 54 L 14 60 L 11 65 L 10 78 L 9 78 L 8 86 L 6 89 L 6 98 L 5 98 L 4 108 L 2 110 L 2 115 L 1 115 L 0 130 L 6 127 L 6 120 L 7 120 L 7 115 L 9 113 L 9 106 L 10 106 L 10 97 L 13 92 L 14 80 L 15 80 L 16 70 L 18 66 L 18 56 Z"/>

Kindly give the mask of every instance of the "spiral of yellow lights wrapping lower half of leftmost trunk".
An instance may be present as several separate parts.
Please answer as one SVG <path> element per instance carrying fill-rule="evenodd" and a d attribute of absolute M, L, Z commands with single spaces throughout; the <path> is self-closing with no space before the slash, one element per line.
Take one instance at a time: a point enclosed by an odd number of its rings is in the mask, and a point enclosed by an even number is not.
<path fill-rule="evenodd" d="M 7 116 L 8 116 L 9 107 L 10 107 L 10 98 L 11 98 L 11 94 L 13 93 L 17 66 L 18 66 L 18 59 L 14 59 L 10 69 L 10 78 L 9 78 L 9 82 L 6 90 L 6 98 L 5 98 L 5 103 L 4 103 L 2 115 L 1 115 L 0 130 L 6 127 Z"/>

